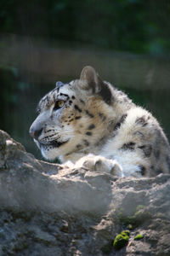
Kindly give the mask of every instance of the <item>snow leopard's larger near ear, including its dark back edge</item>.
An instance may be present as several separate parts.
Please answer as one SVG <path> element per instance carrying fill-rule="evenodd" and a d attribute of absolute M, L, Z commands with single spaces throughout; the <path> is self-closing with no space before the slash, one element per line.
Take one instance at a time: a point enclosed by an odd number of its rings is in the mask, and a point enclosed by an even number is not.
<path fill-rule="evenodd" d="M 81 88 L 88 90 L 90 94 L 98 94 L 103 100 L 111 104 L 113 95 L 110 86 L 100 79 L 99 74 L 96 73 L 94 67 L 84 67 L 80 76 Z"/>

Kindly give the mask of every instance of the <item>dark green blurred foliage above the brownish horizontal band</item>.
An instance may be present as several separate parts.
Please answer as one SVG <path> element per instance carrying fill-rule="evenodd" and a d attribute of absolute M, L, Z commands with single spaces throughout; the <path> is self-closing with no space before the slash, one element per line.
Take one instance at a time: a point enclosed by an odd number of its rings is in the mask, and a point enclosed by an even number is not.
<path fill-rule="evenodd" d="M 170 53 L 162 0 L 2 0 L 0 31 L 136 53 Z"/>

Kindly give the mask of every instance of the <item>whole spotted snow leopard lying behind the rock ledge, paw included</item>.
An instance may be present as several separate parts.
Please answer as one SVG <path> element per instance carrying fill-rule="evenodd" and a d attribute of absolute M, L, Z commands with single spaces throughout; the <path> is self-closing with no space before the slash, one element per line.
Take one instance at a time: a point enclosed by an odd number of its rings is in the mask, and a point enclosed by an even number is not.
<path fill-rule="evenodd" d="M 48 160 L 71 160 L 118 176 L 169 172 L 170 147 L 156 119 L 93 67 L 84 67 L 71 83 L 57 82 L 37 110 L 30 133 Z"/>

